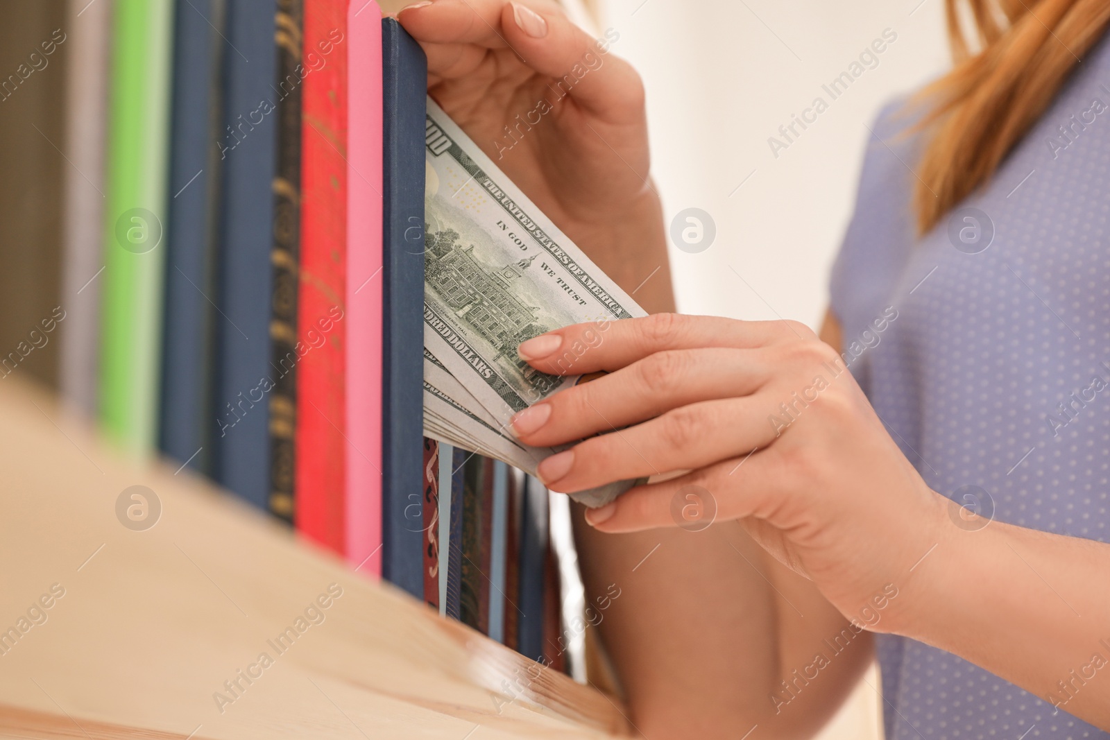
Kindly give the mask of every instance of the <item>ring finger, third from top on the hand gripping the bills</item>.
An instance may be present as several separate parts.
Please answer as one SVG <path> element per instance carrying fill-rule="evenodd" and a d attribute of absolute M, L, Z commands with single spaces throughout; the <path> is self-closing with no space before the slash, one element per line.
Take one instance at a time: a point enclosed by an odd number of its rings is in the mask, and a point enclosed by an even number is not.
<path fill-rule="evenodd" d="M 775 423 L 767 403 L 746 396 L 683 406 L 552 455 L 536 475 L 552 490 L 573 493 L 747 455 L 770 444 L 786 426 Z"/>

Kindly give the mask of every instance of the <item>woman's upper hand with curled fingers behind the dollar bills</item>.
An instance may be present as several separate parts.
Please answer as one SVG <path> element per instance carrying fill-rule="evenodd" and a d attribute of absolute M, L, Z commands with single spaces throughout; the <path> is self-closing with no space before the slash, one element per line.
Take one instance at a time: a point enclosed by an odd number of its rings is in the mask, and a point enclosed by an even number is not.
<path fill-rule="evenodd" d="M 648 179 L 644 85 L 555 2 L 434 0 L 397 20 L 427 53 L 428 94 L 576 244 L 636 297 L 672 304 Z"/>

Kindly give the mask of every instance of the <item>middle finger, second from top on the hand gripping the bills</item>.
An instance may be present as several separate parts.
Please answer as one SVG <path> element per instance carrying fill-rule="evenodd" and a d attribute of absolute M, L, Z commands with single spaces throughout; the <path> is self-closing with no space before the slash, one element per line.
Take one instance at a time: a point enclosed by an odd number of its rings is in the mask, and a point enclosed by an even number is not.
<path fill-rule="evenodd" d="M 771 378 L 774 367 L 773 357 L 757 349 L 657 352 L 524 409 L 513 417 L 513 433 L 535 447 L 562 445 L 679 406 L 749 395 Z"/>

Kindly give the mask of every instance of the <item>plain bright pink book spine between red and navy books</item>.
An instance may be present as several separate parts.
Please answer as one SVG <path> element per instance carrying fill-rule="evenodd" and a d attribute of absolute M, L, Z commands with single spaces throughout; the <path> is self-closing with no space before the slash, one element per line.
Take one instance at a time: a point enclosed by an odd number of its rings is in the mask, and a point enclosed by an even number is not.
<path fill-rule="evenodd" d="M 382 575 L 382 11 L 347 9 L 346 559 Z"/>

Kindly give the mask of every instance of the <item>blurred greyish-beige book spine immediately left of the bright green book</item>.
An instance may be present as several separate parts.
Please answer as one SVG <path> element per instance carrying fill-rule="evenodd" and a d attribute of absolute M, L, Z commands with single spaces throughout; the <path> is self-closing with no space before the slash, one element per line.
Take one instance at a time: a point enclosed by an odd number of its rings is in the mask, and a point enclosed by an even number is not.
<path fill-rule="evenodd" d="M 88 0 L 69 0 L 65 9 L 69 58 L 65 63 L 65 134 L 61 148 L 73 166 L 63 171 L 62 185 L 65 321 L 59 326 L 59 385 L 62 396 L 89 418 L 97 414 L 100 356 L 100 278 L 104 266 L 102 191 L 111 10 L 112 0 L 101 0 L 94 6 L 89 6 Z"/>

